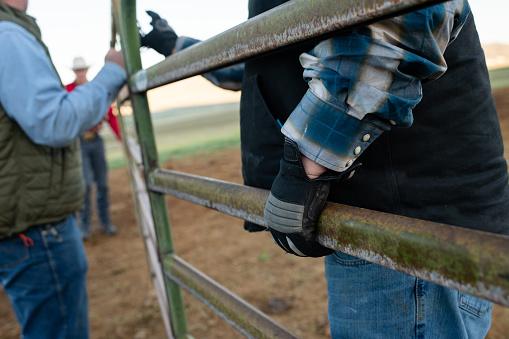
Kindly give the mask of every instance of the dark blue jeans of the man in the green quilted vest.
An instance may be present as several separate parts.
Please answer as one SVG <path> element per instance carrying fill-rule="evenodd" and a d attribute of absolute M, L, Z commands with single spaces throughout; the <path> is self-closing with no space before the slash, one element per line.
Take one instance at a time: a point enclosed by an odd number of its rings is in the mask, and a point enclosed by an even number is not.
<path fill-rule="evenodd" d="M 88 338 L 87 259 L 74 216 L 0 240 L 0 282 L 22 338 Z"/>

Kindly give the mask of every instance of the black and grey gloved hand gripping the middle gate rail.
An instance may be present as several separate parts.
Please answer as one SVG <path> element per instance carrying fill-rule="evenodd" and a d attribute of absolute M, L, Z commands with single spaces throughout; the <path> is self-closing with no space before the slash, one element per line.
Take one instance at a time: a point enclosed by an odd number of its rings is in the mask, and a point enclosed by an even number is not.
<path fill-rule="evenodd" d="M 345 172 L 327 171 L 309 179 L 297 144 L 286 138 L 279 174 L 265 204 L 265 221 L 274 242 L 301 257 L 322 257 L 334 250 L 316 241 L 316 223 L 329 195 L 332 180 L 345 180 L 360 164 Z"/>

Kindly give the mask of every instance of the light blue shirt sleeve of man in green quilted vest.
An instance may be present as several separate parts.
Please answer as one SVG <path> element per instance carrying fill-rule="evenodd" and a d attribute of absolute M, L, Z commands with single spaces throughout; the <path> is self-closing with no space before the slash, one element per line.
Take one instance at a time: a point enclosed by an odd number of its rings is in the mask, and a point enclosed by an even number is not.
<path fill-rule="evenodd" d="M 36 144 L 68 146 L 103 118 L 125 83 L 107 62 L 87 84 L 67 93 L 44 48 L 21 26 L 0 21 L 0 104 Z"/>

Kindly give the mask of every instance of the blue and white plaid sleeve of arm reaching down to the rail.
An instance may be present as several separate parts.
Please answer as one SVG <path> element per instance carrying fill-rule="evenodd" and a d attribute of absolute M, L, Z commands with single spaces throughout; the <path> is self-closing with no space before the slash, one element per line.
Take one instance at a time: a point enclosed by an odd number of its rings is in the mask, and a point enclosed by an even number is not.
<path fill-rule="evenodd" d="M 409 127 L 421 82 L 447 69 L 443 53 L 470 8 L 448 1 L 339 34 L 301 55 L 309 89 L 282 132 L 311 160 L 344 171 L 384 131 Z"/>

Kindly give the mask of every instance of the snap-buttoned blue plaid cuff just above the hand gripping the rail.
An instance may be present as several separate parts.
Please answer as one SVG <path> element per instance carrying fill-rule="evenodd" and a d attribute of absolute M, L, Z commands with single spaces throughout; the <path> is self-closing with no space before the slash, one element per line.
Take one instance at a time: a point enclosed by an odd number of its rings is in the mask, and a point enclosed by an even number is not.
<path fill-rule="evenodd" d="M 373 114 L 362 120 L 333 106 L 308 90 L 281 132 L 299 145 L 300 152 L 336 172 L 347 170 L 391 125 Z"/>

